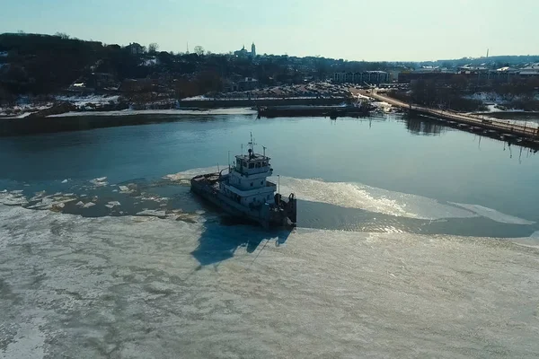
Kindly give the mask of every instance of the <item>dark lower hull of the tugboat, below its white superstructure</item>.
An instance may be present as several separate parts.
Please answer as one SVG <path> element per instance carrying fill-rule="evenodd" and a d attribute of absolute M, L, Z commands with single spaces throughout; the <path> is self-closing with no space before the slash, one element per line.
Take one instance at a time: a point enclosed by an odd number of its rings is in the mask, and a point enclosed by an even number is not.
<path fill-rule="evenodd" d="M 219 191 L 219 181 L 223 178 L 219 173 L 208 173 L 193 177 L 190 180 L 191 191 L 208 202 L 218 206 L 229 215 L 243 220 L 259 223 L 264 228 L 288 227 L 296 225 L 296 197 L 290 195 L 282 199 L 276 194 L 276 204 L 246 207 L 226 197 Z"/>

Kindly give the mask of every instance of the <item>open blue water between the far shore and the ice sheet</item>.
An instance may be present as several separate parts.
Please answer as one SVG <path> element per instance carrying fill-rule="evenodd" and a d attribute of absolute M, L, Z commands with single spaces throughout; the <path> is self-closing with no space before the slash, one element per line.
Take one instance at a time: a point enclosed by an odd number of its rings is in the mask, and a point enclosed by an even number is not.
<path fill-rule="evenodd" d="M 189 171 L 225 166 L 228 151 L 241 153 L 251 132 L 259 152 L 267 146 L 283 192 L 298 192 L 301 227 L 495 237 L 538 229 L 537 155 L 397 115 L 179 116 L 164 124 L 2 138 L 0 190 L 95 197 L 92 208 L 74 201 L 61 209 L 86 216 L 208 210 L 186 186 Z M 163 180 L 181 171 L 188 171 L 183 181 Z M 90 182 L 102 177 L 106 186 Z M 128 184 L 136 189 L 111 186 Z M 111 201 L 121 205 L 105 206 Z"/>

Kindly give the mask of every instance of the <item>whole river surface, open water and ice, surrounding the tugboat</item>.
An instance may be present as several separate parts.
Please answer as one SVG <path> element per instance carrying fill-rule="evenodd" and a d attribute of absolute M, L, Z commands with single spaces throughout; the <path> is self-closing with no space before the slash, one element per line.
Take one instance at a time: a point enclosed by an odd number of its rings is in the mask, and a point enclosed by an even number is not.
<path fill-rule="evenodd" d="M 249 132 L 298 228 L 190 193 Z M 538 157 L 403 118 L 0 140 L 0 358 L 539 355 Z"/>

